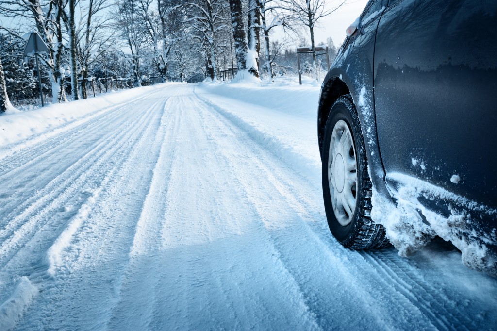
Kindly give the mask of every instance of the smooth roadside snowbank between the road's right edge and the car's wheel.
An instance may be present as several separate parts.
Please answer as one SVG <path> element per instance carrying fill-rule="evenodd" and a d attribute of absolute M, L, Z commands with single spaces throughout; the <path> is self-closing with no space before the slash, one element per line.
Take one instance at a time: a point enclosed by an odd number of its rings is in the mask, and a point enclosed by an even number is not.
<path fill-rule="evenodd" d="M 304 85 L 299 85 L 298 79 L 201 84 L 195 92 L 252 139 L 320 186 L 316 133 L 320 87 L 313 81 Z"/>

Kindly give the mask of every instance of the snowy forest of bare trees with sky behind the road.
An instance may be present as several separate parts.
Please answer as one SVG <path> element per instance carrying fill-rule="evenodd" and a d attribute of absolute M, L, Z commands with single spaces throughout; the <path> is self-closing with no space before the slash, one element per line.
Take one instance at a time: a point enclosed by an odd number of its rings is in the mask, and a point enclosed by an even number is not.
<path fill-rule="evenodd" d="M 296 75 L 296 46 L 309 47 L 301 73 L 319 79 L 327 64 L 317 56 L 314 29 L 345 1 L 325 2 L 2 0 L 0 109 L 39 106 L 36 58 L 52 103 L 166 81 L 228 81 L 244 72 Z M 48 52 L 24 56 L 32 31 Z M 332 59 L 331 37 L 319 42 Z"/>

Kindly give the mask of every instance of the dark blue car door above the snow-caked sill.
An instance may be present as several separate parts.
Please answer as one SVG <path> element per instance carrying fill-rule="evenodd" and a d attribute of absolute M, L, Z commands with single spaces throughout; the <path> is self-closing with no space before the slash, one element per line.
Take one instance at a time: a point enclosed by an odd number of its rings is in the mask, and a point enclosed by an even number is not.
<path fill-rule="evenodd" d="M 377 30 L 381 159 L 487 205 L 497 201 L 497 1 L 390 0 Z"/>

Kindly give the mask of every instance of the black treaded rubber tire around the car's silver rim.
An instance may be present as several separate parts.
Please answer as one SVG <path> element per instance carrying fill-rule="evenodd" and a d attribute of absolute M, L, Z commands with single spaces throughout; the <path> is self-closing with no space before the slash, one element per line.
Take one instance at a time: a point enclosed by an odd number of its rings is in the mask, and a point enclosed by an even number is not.
<path fill-rule="evenodd" d="M 350 222 L 346 225 L 340 224 L 337 216 L 335 216 L 335 211 L 333 211 L 333 204 L 331 202 L 332 193 L 330 191 L 330 186 L 332 186 L 333 190 L 335 189 L 333 185 L 337 185 L 338 189 L 340 189 L 341 187 L 341 189 L 344 190 L 344 188 L 343 186 L 340 186 L 339 183 L 330 184 L 331 179 L 329 178 L 330 175 L 328 171 L 329 160 L 330 157 L 332 158 L 332 156 L 329 155 L 332 132 L 333 130 L 335 130 L 333 139 L 336 139 L 335 125 L 336 128 L 339 128 L 340 125 L 344 127 L 343 122 L 339 122 L 340 120 L 346 123 L 348 130 L 352 136 L 351 144 L 355 148 L 355 151 L 350 150 L 350 156 L 352 157 L 351 160 L 353 160 L 353 155 L 355 154 L 356 170 L 352 170 L 349 172 L 357 172 L 357 181 L 352 188 L 352 194 L 354 195 L 355 193 L 355 209 L 353 212 L 353 216 L 349 216 L 346 212 L 344 212 L 343 215 L 346 215 L 346 217 L 349 218 L 348 222 Z M 370 218 L 372 207 L 372 183 L 368 175 L 368 161 L 364 147 L 364 138 L 362 136 L 359 119 L 357 118 L 357 112 L 350 94 L 340 96 L 331 107 L 331 112 L 328 116 L 325 127 L 325 137 L 323 144 L 323 198 L 325 203 L 326 217 L 328 219 L 328 226 L 330 227 L 331 234 L 345 248 L 371 249 L 389 246 L 389 241 L 385 235 L 385 228 L 380 224 L 374 223 Z M 341 157 L 336 157 L 337 160 L 340 160 L 339 158 Z M 336 169 L 337 167 L 331 165 L 330 168 L 332 168 L 330 172 L 333 172 L 335 171 L 334 169 Z M 347 172 L 347 170 L 345 170 L 344 172 Z M 338 173 L 338 171 L 336 171 L 336 173 Z M 333 173 L 331 174 L 331 177 L 333 176 L 335 176 L 334 178 L 340 178 L 339 174 L 335 175 Z M 336 180 L 336 182 L 338 182 L 339 179 L 333 180 Z M 339 203 L 337 202 L 335 202 L 334 204 L 339 205 Z M 338 218 L 340 218 L 342 223 L 345 223 L 343 222 L 343 216 L 340 217 L 340 214 L 336 215 L 338 215 Z"/>

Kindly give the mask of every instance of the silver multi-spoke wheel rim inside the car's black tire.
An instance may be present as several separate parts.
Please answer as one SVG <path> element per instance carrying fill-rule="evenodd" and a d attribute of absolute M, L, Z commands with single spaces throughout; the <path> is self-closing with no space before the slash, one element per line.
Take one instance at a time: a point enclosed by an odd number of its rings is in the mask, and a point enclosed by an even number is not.
<path fill-rule="evenodd" d="M 328 155 L 331 205 L 338 223 L 346 226 L 352 222 L 357 205 L 357 161 L 352 135 L 343 120 L 333 127 Z"/>

